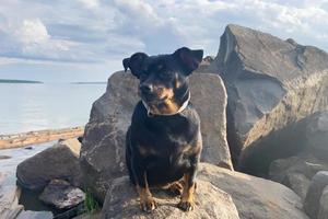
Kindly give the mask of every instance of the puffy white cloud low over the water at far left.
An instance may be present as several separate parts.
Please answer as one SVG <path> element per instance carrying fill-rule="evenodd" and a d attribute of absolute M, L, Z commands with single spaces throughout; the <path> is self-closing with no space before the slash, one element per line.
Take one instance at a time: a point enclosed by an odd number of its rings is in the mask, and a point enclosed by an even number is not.
<path fill-rule="evenodd" d="M 9 58 L 31 59 L 72 59 L 69 51 L 77 43 L 52 38 L 44 23 L 36 20 L 23 20 L 7 25 L 2 31 L 0 55 Z"/>

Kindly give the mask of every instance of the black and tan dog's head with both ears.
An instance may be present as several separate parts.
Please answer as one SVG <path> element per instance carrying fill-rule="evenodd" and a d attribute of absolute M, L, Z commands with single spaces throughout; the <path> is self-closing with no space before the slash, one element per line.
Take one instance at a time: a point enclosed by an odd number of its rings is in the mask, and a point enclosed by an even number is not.
<path fill-rule="evenodd" d="M 198 68 L 202 55 L 202 50 L 183 47 L 169 55 L 136 53 L 122 64 L 140 80 L 139 95 L 148 110 L 156 115 L 172 115 L 189 100 L 188 76 Z"/>

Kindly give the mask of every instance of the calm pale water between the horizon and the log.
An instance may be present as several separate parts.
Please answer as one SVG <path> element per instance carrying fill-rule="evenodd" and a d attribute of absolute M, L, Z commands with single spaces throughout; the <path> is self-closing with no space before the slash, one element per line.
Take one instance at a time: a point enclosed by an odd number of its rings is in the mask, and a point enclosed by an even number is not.
<path fill-rule="evenodd" d="M 105 90 L 105 83 L 0 83 L 0 135 L 85 125 Z"/>

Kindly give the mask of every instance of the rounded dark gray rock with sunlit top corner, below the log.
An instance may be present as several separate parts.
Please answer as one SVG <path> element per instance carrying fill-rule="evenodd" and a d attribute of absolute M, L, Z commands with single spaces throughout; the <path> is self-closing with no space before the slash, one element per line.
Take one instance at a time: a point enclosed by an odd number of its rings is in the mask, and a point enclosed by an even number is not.
<path fill-rule="evenodd" d="M 19 183 L 28 189 L 45 187 L 51 180 L 66 180 L 81 186 L 79 163 L 81 143 L 77 139 L 59 141 L 17 165 Z"/>

